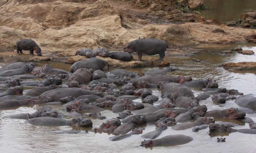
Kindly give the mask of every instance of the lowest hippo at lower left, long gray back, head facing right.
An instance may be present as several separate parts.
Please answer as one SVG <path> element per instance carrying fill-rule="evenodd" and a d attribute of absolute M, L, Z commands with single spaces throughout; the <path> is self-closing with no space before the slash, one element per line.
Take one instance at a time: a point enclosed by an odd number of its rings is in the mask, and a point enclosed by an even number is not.
<path fill-rule="evenodd" d="M 42 126 L 76 126 L 76 127 L 92 127 L 93 123 L 89 119 L 82 117 L 72 120 L 62 120 L 54 117 L 37 117 L 27 121 L 30 124 Z"/>

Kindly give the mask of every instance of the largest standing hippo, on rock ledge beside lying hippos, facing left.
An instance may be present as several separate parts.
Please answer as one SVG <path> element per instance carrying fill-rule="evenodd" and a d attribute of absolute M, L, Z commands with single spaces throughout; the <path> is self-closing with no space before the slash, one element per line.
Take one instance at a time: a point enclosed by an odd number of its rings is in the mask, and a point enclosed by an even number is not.
<path fill-rule="evenodd" d="M 137 52 L 138 61 L 141 61 L 142 54 L 156 55 L 159 54 L 159 61 L 161 62 L 165 56 L 165 51 L 168 45 L 165 41 L 159 39 L 136 39 L 124 47 L 124 52 L 133 53 Z"/>

